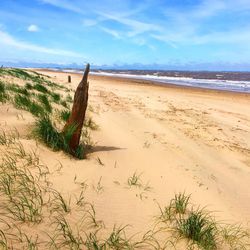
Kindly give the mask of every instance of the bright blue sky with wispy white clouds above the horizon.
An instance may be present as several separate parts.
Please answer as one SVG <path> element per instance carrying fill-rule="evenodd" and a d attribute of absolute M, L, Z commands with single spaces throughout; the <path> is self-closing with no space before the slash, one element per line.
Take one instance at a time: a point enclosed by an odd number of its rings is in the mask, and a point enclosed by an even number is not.
<path fill-rule="evenodd" d="M 0 61 L 250 61 L 250 0 L 1 0 Z"/>

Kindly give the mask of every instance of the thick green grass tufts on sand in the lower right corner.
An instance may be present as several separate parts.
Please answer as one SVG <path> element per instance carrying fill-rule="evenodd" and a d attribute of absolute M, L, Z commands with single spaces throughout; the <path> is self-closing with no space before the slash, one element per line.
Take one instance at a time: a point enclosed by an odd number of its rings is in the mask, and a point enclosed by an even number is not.
<path fill-rule="evenodd" d="M 219 223 L 212 213 L 192 205 L 190 198 L 185 192 L 178 193 L 168 206 L 160 207 L 157 221 L 165 230 L 172 232 L 175 247 L 183 241 L 187 249 L 233 250 L 250 247 L 250 234 L 247 230 Z"/>

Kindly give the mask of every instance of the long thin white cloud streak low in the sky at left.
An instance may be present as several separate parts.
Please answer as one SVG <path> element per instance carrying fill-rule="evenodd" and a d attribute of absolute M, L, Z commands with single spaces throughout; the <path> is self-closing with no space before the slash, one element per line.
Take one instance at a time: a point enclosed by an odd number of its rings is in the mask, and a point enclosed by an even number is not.
<path fill-rule="evenodd" d="M 8 47 L 20 49 L 20 50 L 26 50 L 26 51 L 33 51 L 38 53 L 45 53 L 50 55 L 60 55 L 60 56 L 69 56 L 74 58 L 81 58 L 82 56 L 68 50 L 60 50 L 60 49 L 53 49 L 53 48 L 47 48 L 23 41 L 18 41 L 11 35 L 9 35 L 6 32 L 3 32 L 0 30 L 0 45 L 7 45 Z"/>

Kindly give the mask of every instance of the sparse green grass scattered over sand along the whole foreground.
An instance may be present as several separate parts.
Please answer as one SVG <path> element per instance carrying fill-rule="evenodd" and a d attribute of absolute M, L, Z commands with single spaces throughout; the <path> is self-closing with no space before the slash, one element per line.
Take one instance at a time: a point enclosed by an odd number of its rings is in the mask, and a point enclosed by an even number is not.
<path fill-rule="evenodd" d="M 169 205 L 160 209 L 157 224 L 146 233 L 127 237 L 128 227 L 116 225 L 107 232 L 83 190 L 73 203 L 71 196 L 66 199 L 48 186 L 48 171 L 40 165 L 38 155 L 26 151 L 18 133 L 2 131 L 0 142 L 6 147 L 0 159 L 0 247 L 3 249 L 12 249 L 13 244 L 14 249 L 41 250 L 180 249 L 183 244 L 186 249 L 247 250 L 250 246 L 246 230 L 216 222 L 209 212 L 195 209 L 190 203 L 191 196 L 185 193 L 176 194 Z M 31 171 L 34 168 L 39 171 Z M 137 178 L 133 183 L 138 183 Z M 172 215 L 166 216 L 166 211 Z M 50 226 L 46 232 L 27 231 L 27 225 L 39 228 L 40 224 L 42 228 Z"/>

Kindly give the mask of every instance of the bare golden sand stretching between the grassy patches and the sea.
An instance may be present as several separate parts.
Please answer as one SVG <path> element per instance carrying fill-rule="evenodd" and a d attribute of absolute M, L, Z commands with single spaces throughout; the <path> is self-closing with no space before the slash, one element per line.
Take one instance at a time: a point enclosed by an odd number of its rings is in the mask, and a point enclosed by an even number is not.
<path fill-rule="evenodd" d="M 37 72 L 70 85 L 68 73 Z M 75 89 L 81 75 L 71 76 Z M 40 146 L 41 159 L 55 172 L 50 180 L 55 189 L 67 197 L 79 193 L 79 183 L 86 181 L 87 199 L 107 228 L 130 224 L 132 232 L 145 232 L 159 214 L 157 203 L 167 205 L 183 191 L 220 221 L 248 224 L 249 94 L 101 76 L 90 76 L 89 82 L 91 116 L 99 129 L 91 133 L 94 146 L 88 159 L 70 159 Z M 34 121 L 8 105 L 0 115 L 2 125 L 23 134 Z M 57 172 L 59 162 L 63 167 Z M 127 180 L 135 172 L 151 190 L 129 188 Z"/>

